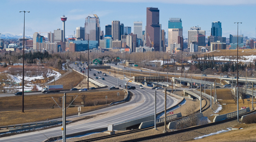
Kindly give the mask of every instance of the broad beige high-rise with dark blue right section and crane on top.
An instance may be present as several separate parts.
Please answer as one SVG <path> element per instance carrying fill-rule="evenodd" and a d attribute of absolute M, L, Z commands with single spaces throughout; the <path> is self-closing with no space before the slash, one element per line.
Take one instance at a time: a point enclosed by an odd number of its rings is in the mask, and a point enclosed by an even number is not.
<path fill-rule="evenodd" d="M 205 46 L 205 31 L 201 27 L 191 27 L 188 31 L 188 44 L 197 42 L 198 46 Z"/>

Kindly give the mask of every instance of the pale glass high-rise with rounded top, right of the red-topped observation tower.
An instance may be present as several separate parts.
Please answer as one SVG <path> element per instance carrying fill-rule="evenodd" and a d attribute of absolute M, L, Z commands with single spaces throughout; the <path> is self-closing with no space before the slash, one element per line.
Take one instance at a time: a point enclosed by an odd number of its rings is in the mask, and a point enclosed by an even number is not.
<path fill-rule="evenodd" d="M 88 35 L 90 37 L 89 40 L 98 41 L 98 45 L 100 44 L 100 19 L 98 18 L 97 14 L 90 14 L 85 18 L 84 24 L 84 31 L 85 31 L 85 40 L 88 40 Z"/>

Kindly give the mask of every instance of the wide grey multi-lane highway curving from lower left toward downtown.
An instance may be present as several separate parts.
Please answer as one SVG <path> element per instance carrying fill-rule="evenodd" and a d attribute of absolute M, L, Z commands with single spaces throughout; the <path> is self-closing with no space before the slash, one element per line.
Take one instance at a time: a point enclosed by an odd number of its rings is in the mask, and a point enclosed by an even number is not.
<path fill-rule="evenodd" d="M 71 65 L 72 67 L 72 65 Z M 78 69 L 78 68 L 77 68 Z M 97 70 L 92 69 L 89 71 L 90 76 L 92 76 L 94 73 L 97 74 Z M 86 73 L 87 74 L 87 73 Z M 100 76 L 100 74 L 97 74 L 97 76 Z M 102 76 L 102 74 L 101 74 Z M 94 76 L 95 77 L 95 76 Z M 102 76 L 103 77 L 103 76 Z M 93 77 L 92 77 L 93 78 Z M 107 85 L 108 87 L 111 86 L 117 86 L 117 78 L 114 78 L 113 76 L 104 76 L 105 80 L 98 79 L 97 81 Z M 96 80 L 96 79 L 95 79 Z M 128 80 L 126 80 L 128 81 Z M 123 84 L 121 80 L 119 80 L 119 84 Z M 133 82 L 129 82 L 130 86 L 135 86 L 136 90 L 130 90 L 135 96 L 131 99 L 130 102 L 126 102 L 123 104 L 115 105 L 115 106 L 110 106 L 108 108 L 104 108 L 101 110 L 96 110 L 92 111 L 90 113 L 84 113 L 81 114 L 81 116 L 88 116 L 88 115 L 94 115 L 98 113 L 104 113 L 109 110 L 114 110 L 117 108 L 121 107 L 132 107 L 135 104 L 137 104 L 136 107 L 133 109 L 129 109 L 127 111 L 121 111 L 117 115 L 113 115 L 110 117 L 105 117 L 100 120 L 92 121 L 92 122 L 75 122 L 70 125 L 67 125 L 67 134 L 71 133 L 78 133 L 82 131 L 88 131 L 90 129 L 96 129 L 96 128 L 103 128 L 107 127 L 108 124 L 114 124 L 114 123 L 120 123 L 132 119 L 136 119 L 138 117 L 142 116 L 147 116 L 150 114 L 154 113 L 154 94 L 155 90 L 152 90 L 151 88 L 145 88 L 139 89 L 139 86 L 136 84 L 133 84 Z M 123 85 L 122 85 L 123 86 Z M 164 93 L 162 93 L 162 90 L 157 91 L 157 112 L 160 112 L 164 110 Z M 175 105 L 177 102 L 175 102 L 176 99 L 173 99 L 170 96 L 167 96 L 167 108 L 169 108 L 172 105 Z M 78 117 L 78 116 L 70 116 L 67 117 L 67 119 L 71 117 Z M 61 119 L 56 119 L 56 120 L 61 120 Z M 55 127 L 55 128 L 49 128 L 49 129 L 44 129 L 44 130 L 39 130 L 39 131 L 34 131 L 34 132 L 27 132 L 23 134 L 16 134 L 12 135 L 10 137 L 3 137 L 0 138 L 0 141 L 43 141 L 46 139 L 46 137 L 57 137 L 61 136 L 62 131 L 61 131 L 61 126 Z"/>

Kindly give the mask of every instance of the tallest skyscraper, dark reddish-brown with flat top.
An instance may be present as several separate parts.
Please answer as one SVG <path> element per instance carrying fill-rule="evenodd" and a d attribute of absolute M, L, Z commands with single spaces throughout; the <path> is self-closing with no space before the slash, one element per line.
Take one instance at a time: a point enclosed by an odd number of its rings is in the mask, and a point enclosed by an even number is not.
<path fill-rule="evenodd" d="M 155 51 L 160 51 L 160 25 L 158 8 L 147 8 L 146 32 L 147 46 L 154 46 Z"/>

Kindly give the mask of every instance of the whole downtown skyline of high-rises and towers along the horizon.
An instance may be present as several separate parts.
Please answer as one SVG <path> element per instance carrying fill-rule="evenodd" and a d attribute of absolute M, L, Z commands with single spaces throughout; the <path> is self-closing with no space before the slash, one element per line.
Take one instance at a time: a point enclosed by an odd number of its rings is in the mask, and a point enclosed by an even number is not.
<path fill-rule="evenodd" d="M 30 51 L 48 52 L 103 52 L 106 50 L 119 52 L 147 52 L 161 51 L 176 54 L 183 50 L 188 52 L 207 52 L 220 49 L 236 49 L 237 43 L 240 49 L 255 49 L 254 39 L 248 39 L 241 35 L 231 35 L 229 38 L 222 37 L 222 23 L 212 22 L 211 34 L 199 26 L 190 27 L 188 38 L 183 37 L 182 19 L 171 17 L 168 20 L 167 41 L 165 30 L 159 23 L 160 11 L 158 8 L 147 8 L 147 21 L 143 30 L 142 21 L 133 22 L 126 26 L 121 21 L 113 20 L 111 24 L 101 29 L 100 17 L 97 14 L 90 14 L 85 17 L 84 26 L 77 27 L 73 38 L 65 38 L 65 21 L 67 17 L 62 16 L 63 28 L 55 29 L 47 33 L 47 38 L 36 32 L 33 39 L 25 38 L 25 48 Z M 105 32 L 105 33 L 104 33 Z M 238 36 L 238 41 L 237 41 Z M 4 45 L 1 39 L 0 45 L 6 51 L 22 50 L 23 39 L 18 44 Z"/>

